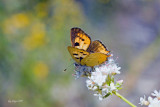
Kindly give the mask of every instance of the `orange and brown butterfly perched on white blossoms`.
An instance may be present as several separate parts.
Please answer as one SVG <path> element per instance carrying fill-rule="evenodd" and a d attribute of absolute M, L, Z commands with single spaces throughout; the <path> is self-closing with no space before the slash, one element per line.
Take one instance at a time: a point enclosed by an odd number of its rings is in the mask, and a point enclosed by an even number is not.
<path fill-rule="evenodd" d="M 80 28 L 71 29 L 71 44 L 68 46 L 68 51 L 72 58 L 80 65 L 96 66 L 108 60 L 109 52 L 101 41 L 91 41 L 87 35 Z"/>

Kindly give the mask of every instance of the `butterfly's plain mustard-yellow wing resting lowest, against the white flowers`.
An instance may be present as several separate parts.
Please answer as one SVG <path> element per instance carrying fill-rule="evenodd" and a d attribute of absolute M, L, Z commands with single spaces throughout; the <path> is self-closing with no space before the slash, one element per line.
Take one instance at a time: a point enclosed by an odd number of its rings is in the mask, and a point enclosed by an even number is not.
<path fill-rule="evenodd" d="M 105 62 L 109 56 L 110 55 L 106 55 L 102 53 L 91 53 L 88 56 L 86 56 L 84 59 L 82 59 L 81 65 L 86 65 L 86 66 L 100 65 L 103 62 Z"/>

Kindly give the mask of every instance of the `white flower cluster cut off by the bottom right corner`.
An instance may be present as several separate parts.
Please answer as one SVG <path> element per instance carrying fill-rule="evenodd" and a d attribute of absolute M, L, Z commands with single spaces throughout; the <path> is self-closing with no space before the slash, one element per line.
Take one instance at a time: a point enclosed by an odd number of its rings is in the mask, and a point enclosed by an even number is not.
<path fill-rule="evenodd" d="M 148 100 L 146 100 L 146 97 L 141 97 L 140 98 L 140 105 L 146 105 L 148 107 L 160 107 L 160 90 L 159 92 L 155 90 L 151 95 L 154 97 L 152 98 L 151 96 L 148 97 Z"/>

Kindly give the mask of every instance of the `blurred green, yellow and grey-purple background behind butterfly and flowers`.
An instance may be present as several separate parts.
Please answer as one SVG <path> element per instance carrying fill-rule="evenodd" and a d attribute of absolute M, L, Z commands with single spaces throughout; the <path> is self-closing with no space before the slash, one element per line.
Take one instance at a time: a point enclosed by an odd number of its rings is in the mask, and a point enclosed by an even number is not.
<path fill-rule="evenodd" d="M 160 90 L 159 0 L 1 0 L 0 107 L 129 107 L 115 95 L 99 101 L 73 65 L 63 72 L 72 27 L 112 52 L 119 93 L 135 105 Z"/>

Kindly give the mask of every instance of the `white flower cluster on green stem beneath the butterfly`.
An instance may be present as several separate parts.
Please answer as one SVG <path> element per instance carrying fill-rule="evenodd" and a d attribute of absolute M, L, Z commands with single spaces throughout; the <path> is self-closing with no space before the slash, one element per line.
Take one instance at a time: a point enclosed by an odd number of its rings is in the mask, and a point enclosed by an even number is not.
<path fill-rule="evenodd" d="M 115 81 L 114 75 L 120 74 L 121 67 L 118 67 L 113 59 L 109 59 L 104 64 L 94 67 L 94 71 L 88 76 L 86 85 L 89 90 L 95 92 L 95 96 L 102 100 L 114 91 L 121 89 L 123 80 Z"/>

